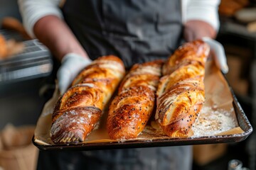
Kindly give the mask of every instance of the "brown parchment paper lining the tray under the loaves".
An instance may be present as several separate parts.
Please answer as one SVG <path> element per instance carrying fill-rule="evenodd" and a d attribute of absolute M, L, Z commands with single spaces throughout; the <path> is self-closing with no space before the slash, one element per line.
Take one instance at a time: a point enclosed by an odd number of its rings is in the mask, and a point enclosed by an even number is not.
<path fill-rule="evenodd" d="M 225 81 L 223 74 L 215 67 L 214 62 L 206 62 L 206 103 L 200 113 L 198 121 L 193 125 L 195 137 L 216 136 L 216 135 L 233 135 L 240 134 L 243 130 L 238 126 L 238 121 L 233 108 L 233 96 L 230 87 Z M 53 107 L 58 100 L 58 89 L 55 89 L 53 97 L 46 103 L 41 113 L 35 130 L 35 142 L 38 145 L 54 145 L 50 140 L 50 125 Z M 154 114 L 152 114 L 154 115 Z M 97 128 L 87 136 L 85 143 L 96 142 L 113 142 L 107 135 L 106 130 L 107 112 L 103 113 Z M 134 140 L 151 141 L 155 139 L 169 138 L 164 135 L 161 128 L 151 118 L 146 128 Z M 125 142 L 125 141 L 122 141 Z"/>

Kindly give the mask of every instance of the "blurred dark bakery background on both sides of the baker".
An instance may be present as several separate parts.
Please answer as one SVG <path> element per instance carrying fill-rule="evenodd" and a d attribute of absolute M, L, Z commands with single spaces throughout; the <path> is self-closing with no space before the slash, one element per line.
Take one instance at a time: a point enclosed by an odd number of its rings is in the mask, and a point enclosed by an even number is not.
<path fill-rule="evenodd" d="M 216 40 L 225 49 L 229 67 L 225 78 L 253 128 L 256 1 L 222 0 L 219 16 Z M 26 34 L 16 0 L 0 0 L 0 42 L 1 36 L 8 42 L 9 50 L 8 54 L 0 53 L 0 169 L 36 169 L 39 150 L 32 143 L 33 130 L 55 90 L 59 63 L 41 42 Z M 194 145 L 192 169 L 225 170 L 231 160 L 237 159 L 243 167 L 255 170 L 255 144 L 254 130 L 240 142 Z"/>

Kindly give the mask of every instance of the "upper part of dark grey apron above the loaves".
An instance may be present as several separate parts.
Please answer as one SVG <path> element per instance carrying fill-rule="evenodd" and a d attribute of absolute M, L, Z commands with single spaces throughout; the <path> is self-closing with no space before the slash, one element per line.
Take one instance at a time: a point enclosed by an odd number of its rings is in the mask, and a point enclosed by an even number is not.
<path fill-rule="evenodd" d="M 63 15 L 92 60 L 117 55 L 126 67 L 168 57 L 181 39 L 179 0 L 67 0 Z"/>

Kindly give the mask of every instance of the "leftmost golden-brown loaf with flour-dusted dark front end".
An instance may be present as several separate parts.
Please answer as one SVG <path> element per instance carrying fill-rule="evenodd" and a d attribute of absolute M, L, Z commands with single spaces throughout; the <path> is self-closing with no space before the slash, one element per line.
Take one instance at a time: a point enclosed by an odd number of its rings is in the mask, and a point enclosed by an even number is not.
<path fill-rule="evenodd" d="M 124 74 L 123 62 L 112 55 L 100 57 L 85 67 L 55 105 L 51 140 L 54 143 L 84 142 Z"/>

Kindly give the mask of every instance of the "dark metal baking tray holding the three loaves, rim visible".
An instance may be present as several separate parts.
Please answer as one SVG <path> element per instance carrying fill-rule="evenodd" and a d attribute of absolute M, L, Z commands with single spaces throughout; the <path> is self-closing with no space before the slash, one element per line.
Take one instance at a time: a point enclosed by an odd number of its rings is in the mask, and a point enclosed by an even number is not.
<path fill-rule="evenodd" d="M 225 79 L 225 77 L 224 77 Z M 225 81 L 227 81 L 225 79 Z M 228 81 L 227 81 L 228 82 Z M 99 150 L 99 149 L 126 149 L 137 147 L 167 147 L 167 146 L 180 146 L 180 145 L 203 145 L 214 143 L 228 143 L 228 142 L 241 142 L 245 140 L 252 133 L 252 125 L 242 110 L 238 99 L 235 97 L 234 91 L 228 85 L 233 98 L 233 108 L 235 111 L 238 125 L 244 131 L 242 133 L 234 135 L 213 135 L 213 136 L 201 136 L 201 137 L 186 137 L 186 138 L 174 138 L 163 137 L 156 140 L 126 140 L 124 142 L 95 142 L 95 143 L 78 143 L 68 145 L 41 145 L 36 142 L 35 136 L 33 136 L 33 145 L 38 149 L 44 151 L 68 151 L 68 150 Z"/>

